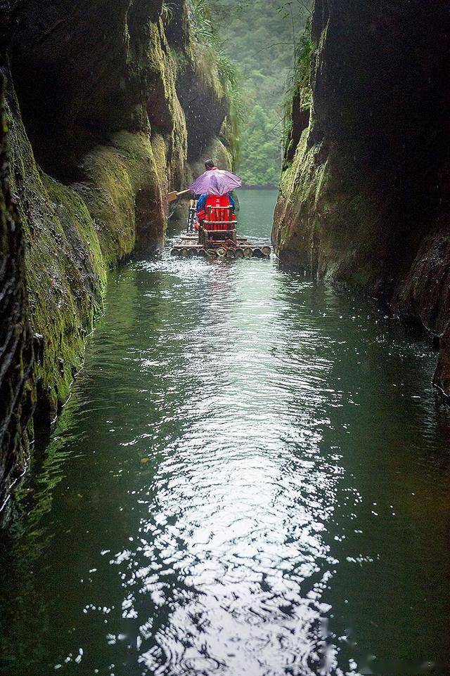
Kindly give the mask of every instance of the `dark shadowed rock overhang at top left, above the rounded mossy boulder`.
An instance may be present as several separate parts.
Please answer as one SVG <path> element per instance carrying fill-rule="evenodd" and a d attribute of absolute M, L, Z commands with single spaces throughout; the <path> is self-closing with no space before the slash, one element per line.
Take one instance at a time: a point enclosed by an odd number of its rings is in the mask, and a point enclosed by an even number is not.
<path fill-rule="evenodd" d="M 162 70 L 162 2 L 28 0 L 9 48 L 23 122 L 41 169 L 64 182 L 120 129 L 146 129 Z"/>

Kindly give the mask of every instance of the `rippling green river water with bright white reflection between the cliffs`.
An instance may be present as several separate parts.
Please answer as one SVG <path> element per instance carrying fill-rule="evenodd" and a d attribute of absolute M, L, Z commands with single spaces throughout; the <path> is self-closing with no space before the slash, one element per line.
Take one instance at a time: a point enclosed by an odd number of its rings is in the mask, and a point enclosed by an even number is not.
<path fill-rule="evenodd" d="M 269 241 L 272 191 L 240 195 Z M 428 343 L 270 261 L 110 274 L 1 549 L 14 676 L 450 672 Z"/>

